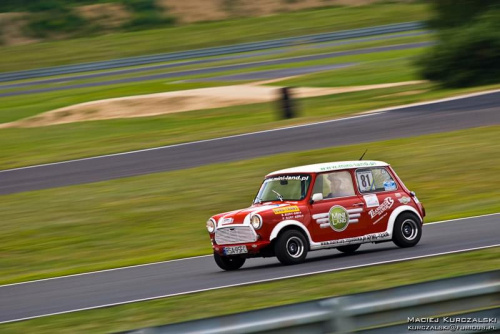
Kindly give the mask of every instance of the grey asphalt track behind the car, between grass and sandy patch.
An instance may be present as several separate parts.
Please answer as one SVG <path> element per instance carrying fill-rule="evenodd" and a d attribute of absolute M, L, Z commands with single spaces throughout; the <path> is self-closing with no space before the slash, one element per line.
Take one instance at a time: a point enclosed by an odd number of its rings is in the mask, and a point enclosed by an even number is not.
<path fill-rule="evenodd" d="M 494 92 L 299 127 L 0 171 L 0 194 L 499 123 L 500 92 Z"/>

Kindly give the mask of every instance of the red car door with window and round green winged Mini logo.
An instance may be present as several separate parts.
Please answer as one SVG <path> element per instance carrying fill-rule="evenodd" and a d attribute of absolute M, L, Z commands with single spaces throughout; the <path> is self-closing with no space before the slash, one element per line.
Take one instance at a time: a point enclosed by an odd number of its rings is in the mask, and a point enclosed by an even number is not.
<path fill-rule="evenodd" d="M 313 194 L 323 199 L 310 205 L 311 238 L 315 242 L 353 238 L 365 234 L 366 220 L 361 219 L 365 203 L 356 193 L 349 170 L 318 174 Z"/>

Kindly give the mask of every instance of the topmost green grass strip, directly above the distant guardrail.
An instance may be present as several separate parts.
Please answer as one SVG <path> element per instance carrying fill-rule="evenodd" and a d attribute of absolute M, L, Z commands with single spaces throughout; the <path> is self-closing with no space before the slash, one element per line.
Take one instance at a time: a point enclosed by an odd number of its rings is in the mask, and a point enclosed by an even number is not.
<path fill-rule="evenodd" d="M 426 4 L 374 4 L 305 10 L 187 26 L 117 33 L 0 49 L 0 71 L 74 64 L 161 52 L 390 24 L 429 17 Z"/>

